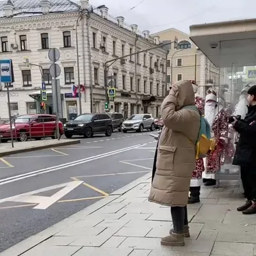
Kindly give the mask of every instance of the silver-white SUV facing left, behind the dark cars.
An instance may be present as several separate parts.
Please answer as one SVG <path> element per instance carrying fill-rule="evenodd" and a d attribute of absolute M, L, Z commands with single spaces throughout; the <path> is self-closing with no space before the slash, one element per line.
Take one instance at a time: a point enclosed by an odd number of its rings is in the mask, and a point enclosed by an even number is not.
<path fill-rule="evenodd" d="M 143 132 L 144 129 L 155 130 L 154 118 L 150 114 L 131 115 L 122 124 L 122 131 Z"/>

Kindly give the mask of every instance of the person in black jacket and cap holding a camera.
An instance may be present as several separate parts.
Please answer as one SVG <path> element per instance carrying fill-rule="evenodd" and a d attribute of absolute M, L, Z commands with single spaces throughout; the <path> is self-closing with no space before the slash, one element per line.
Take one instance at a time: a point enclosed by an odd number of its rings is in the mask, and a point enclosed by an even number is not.
<path fill-rule="evenodd" d="M 246 203 L 237 208 L 243 214 L 256 214 L 256 85 L 248 90 L 248 113 L 243 120 L 234 118 L 232 125 L 239 133 L 234 165 L 240 166 Z"/>

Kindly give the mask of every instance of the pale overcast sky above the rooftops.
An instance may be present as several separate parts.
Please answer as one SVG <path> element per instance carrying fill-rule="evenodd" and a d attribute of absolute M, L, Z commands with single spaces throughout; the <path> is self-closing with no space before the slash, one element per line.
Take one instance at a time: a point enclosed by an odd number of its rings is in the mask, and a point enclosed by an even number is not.
<path fill-rule="evenodd" d="M 149 30 L 150 33 L 168 28 L 189 33 L 189 26 L 192 24 L 252 19 L 255 18 L 256 13 L 255 0 L 89 1 L 93 6 L 105 4 L 109 8 L 110 15 L 124 16 L 127 24 L 138 24 L 140 31 Z"/>

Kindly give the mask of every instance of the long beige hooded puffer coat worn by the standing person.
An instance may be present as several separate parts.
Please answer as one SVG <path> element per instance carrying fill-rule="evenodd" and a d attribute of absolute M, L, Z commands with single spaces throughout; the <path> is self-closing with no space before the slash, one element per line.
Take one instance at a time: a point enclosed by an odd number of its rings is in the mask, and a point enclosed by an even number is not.
<path fill-rule="evenodd" d="M 164 99 L 161 112 L 164 123 L 159 138 L 156 174 L 148 200 L 161 205 L 188 204 L 189 184 L 195 169 L 195 143 L 200 115 L 195 109 L 193 86 L 189 81 L 175 83 Z"/>

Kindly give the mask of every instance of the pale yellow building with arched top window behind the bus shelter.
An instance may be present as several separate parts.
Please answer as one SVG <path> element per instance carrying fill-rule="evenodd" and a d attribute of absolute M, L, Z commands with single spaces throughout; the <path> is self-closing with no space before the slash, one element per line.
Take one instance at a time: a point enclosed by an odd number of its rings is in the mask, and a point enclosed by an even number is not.
<path fill-rule="evenodd" d="M 178 47 L 170 47 L 167 61 L 167 83 L 170 86 L 179 80 L 195 80 L 200 85 L 200 94 L 205 95 L 208 88 L 226 83 L 225 70 L 219 70 L 190 40 L 189 35 L 175 28 L 155 33 L 163 42 L 178 39 Z"/>

